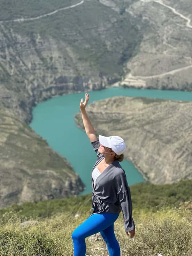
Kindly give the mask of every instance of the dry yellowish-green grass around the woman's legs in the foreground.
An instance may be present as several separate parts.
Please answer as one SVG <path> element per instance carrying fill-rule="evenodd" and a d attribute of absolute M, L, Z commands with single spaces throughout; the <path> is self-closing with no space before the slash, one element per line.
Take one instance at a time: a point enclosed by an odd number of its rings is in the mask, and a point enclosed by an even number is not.
<path fill-rule="evenodd" d="M 186 206 L 187 207 L 187 206 Z M 185 209 L 185 210 L 184 210 Z M 135 214 L 135 236 L 130 239 L 124 232 L 123 216 L 114 223 L 122 256 L 190 256 L 192 251 L 191 208 L 166 209 L 159 212 Z M 187 209 L 188 210 L 188 209 Z M 190 215 L 189 215 L 190 214 Z M 36 226 L 20 227 L 20 220 L 10 220 L 0 230 L 1 256 L 73 256 L 71 234 L 89 214 L 58 214 L 40 220 Z M 106 244 L 100 240 L 85 239 L 86 254 L 106 256 Z M 99 250 L 100 249 L 100 250 Z"/>

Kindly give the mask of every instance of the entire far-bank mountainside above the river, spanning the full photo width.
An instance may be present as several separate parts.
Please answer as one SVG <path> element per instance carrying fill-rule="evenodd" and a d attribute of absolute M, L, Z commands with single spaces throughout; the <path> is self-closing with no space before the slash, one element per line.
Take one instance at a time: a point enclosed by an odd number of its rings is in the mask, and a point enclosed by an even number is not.
<path fill-rule="evenodd" d="M 192 90 L 189 0 L 21 4 L 0 4 L 0 82 L 28 101 L 114 83 Z"/>

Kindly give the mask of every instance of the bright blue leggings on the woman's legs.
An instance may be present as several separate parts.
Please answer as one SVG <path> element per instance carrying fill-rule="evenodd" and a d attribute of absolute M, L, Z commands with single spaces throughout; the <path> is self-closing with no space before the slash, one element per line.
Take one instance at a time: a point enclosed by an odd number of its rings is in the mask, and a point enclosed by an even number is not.
<path fill-rule="evenodd" d="M 98 232 L 107 244 L 109 256 L 120 256 L 120 247 L 114 233 L 114 222 L 118 217 L 119 213 L 96 213 L 78 226 L 72 233 L 74 256 L 85 256 L 85 238 Z"/>

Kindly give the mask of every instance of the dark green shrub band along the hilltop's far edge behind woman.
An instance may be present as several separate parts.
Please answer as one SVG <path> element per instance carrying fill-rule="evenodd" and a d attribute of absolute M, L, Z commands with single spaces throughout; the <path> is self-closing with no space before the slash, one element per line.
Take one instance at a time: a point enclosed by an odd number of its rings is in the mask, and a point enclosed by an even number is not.
<path fill-rule="evenodd" d="M 150 182 L 137 183 L 130 186 L 132 195 L 133 209 L 136 207 L 138 210 L 148 212 L 159 211 L 162 207 L 176 207 L 178 208 L 181 203 L 190 201 L 192 199 L 192 181 L 180 180 L 176 184 L 154 185 Z M 81 212 L 89 211 L 91 207 L 91 195 L 83 196 L 70 196 L 69 198 L 43 200 L 36 204 L 25 203 L 22 205 L 12 204 L 10 207 L 0 209 L 0 221 L 4 223 L 3 214 L 5 212 L 16 212 L 20 216 L 28 218 L 47 218 L 60 212 L 73 211 Z"/>

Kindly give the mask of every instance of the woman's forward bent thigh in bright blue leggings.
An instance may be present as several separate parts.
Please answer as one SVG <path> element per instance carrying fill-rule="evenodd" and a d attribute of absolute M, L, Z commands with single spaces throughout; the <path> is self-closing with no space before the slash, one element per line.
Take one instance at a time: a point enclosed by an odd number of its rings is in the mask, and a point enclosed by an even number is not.
<path fill-rule="evenodd" d="M 73 238 L 85 239 L 87 236 L 96 234 L 113 224 L 118 218 L 114 213 L 96 213 L 91 215 L 73 231 Z"/>

